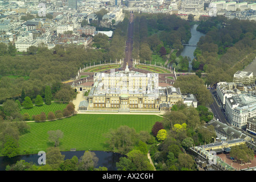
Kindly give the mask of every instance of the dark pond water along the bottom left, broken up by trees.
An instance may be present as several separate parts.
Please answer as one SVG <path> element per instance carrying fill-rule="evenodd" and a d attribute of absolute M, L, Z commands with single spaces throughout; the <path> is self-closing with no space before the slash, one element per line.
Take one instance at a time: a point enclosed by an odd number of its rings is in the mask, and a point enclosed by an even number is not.
<path fill-rule="evenodd" d="M 84 155 L 85 151 L 65 151 L 61 152 L 62 155 L 65 155 L 64 160 L 71 159 L 74 155 L 80 159 L 82 155 Z M 114 152 L 105 152 L 105 151 L 92 151 L 96 154 L 98 158 L 98 163 L 96 168 L 98 167 L 106 167 L 108 171 L 117 171 L 117 167 L 115 163 L 119 162 L 119 158 L 125 156 L 122 154 L 114 153 Z M 40 156 L 38 154 L 30 154 L 30 155 L 19 155 L 15 158 L 7 158 L 0 157 L 0 171 L 5 171 L 7 165 L 15 164 L 18 160 L 25 160 L 26 162 L 32 162 L 38 164 L 38 158 Z"/>

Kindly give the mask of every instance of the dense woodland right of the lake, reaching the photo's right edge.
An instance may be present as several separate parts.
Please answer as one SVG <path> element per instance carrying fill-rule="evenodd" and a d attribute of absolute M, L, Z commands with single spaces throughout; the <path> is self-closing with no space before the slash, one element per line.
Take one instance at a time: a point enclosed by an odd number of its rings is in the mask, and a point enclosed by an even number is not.
<path fill-rule="evenodd" d="M 224 16 L 201 19 L 198 31 L 204 32 L 194 52 L 193 70 L 207 72 L 207 84 L 233 81 L 256 56 L 255 21 L 227 19 Z"/>

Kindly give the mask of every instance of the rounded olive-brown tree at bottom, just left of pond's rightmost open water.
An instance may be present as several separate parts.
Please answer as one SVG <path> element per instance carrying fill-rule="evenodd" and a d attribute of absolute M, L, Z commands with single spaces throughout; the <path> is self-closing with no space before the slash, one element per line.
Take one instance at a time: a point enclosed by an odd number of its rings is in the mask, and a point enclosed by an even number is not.
<path fill-rule="evenodd" d="M 85 151 L 79 162 L 79 170 L 92 171 L 98 163 L 98 158 L 94 152 Z"/>

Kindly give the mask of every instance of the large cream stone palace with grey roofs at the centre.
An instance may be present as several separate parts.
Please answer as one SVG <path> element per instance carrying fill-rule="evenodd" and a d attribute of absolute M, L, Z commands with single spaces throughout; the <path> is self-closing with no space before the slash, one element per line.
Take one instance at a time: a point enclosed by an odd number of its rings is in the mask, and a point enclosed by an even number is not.
<path fill-rule="evenodd" d="M 158 73 L 125 71 L 94 73 L 94 85 L 79 111 L 161 112 L 184 101 L 179 88 L 159 87 Z"/>

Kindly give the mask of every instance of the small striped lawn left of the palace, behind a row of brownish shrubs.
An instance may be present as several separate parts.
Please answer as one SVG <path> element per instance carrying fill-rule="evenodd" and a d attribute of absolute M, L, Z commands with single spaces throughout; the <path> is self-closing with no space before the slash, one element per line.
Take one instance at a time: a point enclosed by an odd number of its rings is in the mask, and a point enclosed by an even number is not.
<path fill-rule="evenodd" d="M 44 112 L 46 113 L 46 115 L 48 115 L 49 111 L 52 111 L 54 113 L 56 110 L 63 110 L 66 106 L 67 104 L 52 102 L 51 105 L 43 104 L 43 106 L 34 106 L 32 109 L 22 109 L 20 113 L 28 113 L 31 118 L 32 115 L 41 114 L 41 112 Z"/>

